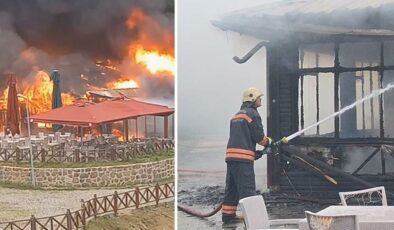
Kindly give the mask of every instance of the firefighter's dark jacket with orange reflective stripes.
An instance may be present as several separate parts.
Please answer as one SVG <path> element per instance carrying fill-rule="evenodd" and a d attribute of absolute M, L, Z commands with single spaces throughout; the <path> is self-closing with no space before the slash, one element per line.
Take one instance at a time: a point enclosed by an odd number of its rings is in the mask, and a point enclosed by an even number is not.
<path fill-rule="evenodd" d="M 256 159 L 256 144 L 267 146 L 269 139 L 264 134 L 261 117 L 254 103 L 244 102 L 240 111 L 230 121 L 226 162 L 253 162 Z"/>

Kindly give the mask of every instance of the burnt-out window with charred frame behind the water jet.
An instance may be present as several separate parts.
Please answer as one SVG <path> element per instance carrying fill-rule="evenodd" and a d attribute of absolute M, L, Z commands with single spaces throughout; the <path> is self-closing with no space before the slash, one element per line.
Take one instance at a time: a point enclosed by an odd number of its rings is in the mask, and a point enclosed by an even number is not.
<path fill-rule="evenodd" d="M 391 51 L 394 51 L 394 42 L 300 47 L 299 129 L 394 82 L 394 52 Z M 367 100 L 306 131 L 304 136 L 394 138 L 394 91 Z"/>

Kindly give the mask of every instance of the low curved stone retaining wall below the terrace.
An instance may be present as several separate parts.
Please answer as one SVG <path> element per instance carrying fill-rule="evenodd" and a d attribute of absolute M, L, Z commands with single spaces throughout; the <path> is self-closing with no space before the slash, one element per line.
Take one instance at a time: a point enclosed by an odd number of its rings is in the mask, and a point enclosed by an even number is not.
<path fill-rule="evenodd" d="M 35 168 L 42 188 L 125 187 L 174 178 L 174 159 L 90 168 Z M 30 168 L 0 166 L 0 182 L 31 184 Z"/>

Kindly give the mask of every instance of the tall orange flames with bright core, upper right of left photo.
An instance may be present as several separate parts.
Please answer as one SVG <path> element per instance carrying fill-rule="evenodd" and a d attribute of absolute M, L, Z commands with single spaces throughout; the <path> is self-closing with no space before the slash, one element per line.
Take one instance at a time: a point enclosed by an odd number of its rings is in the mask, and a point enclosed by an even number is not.
<path fill-rule="evenodd" d="M 122 72 L 122 66 L 109 59 L 96 60 L 96 66 L 110 71 L 119 77 L 106 84 L 112 89 L 139 88 L 141 76 L 173 76 L 175 61 L 173 55 L 174 35 L 165 30 L 157 19 L 144 13 L 142 9 L 134 8 L 127 19 L 127 27 L 136 30 L 136 37 L 130 41 L 128 49 L 131 70 Z M 83 76 L 81 76 L 83 78 Z M 89 84 L 89 83 L 88 83 Z M 94 90 L 94 86 L 89 84 Z"/>

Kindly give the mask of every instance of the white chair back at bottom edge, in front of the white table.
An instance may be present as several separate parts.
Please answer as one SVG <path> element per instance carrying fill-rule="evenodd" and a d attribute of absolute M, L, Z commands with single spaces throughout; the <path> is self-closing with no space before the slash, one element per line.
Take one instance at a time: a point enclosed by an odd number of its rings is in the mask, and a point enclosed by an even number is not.
<path fill-rule="evenodd" d="M 356 215 L 326 216 L 305 211 L 309 230 L 359 230 Z"/>

